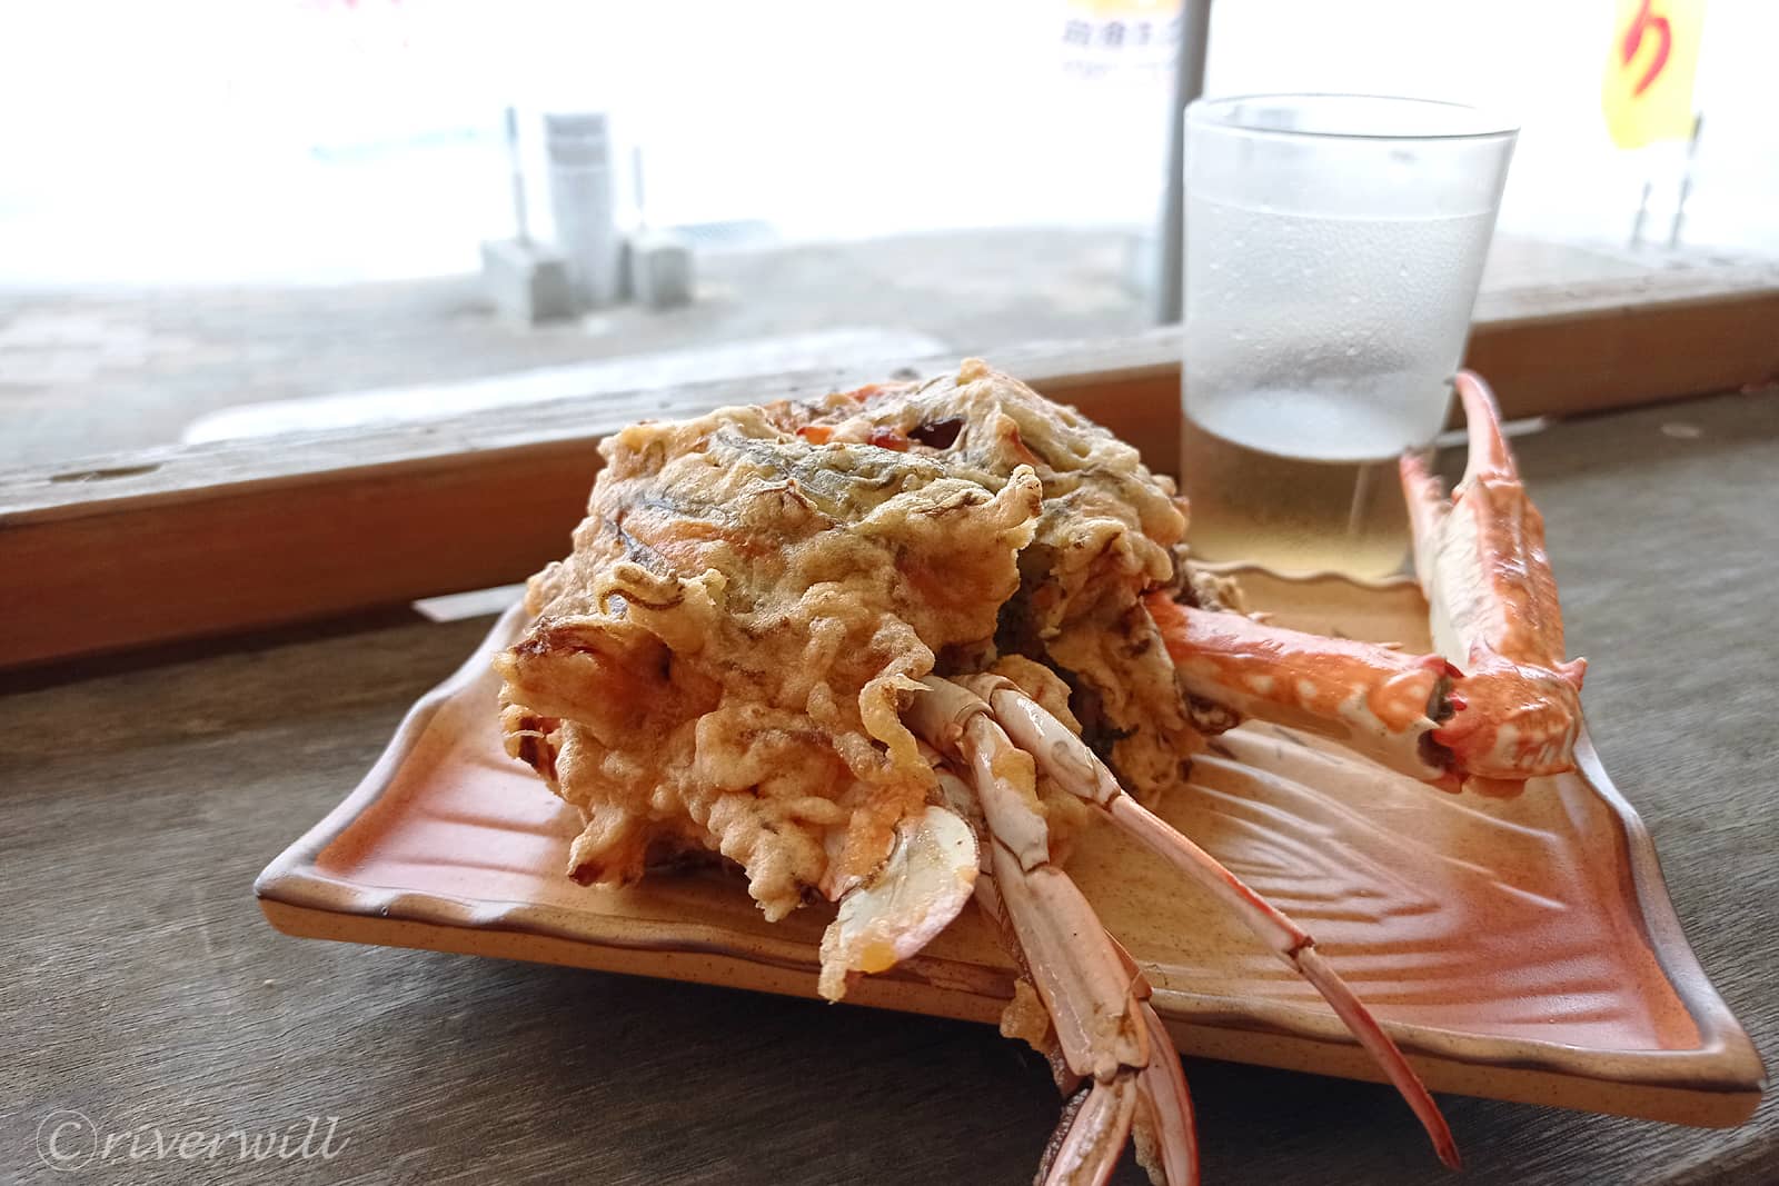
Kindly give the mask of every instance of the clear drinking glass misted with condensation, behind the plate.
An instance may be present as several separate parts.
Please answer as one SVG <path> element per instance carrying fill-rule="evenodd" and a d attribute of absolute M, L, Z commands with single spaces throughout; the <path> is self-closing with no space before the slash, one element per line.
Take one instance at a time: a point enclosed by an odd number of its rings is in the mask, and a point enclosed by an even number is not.
<path fill-rule="evenodd" d="M 1187 108 L 1181 487 L 1206 560 L 1386 576 L 1517 128 L 1361 94 Z"/>

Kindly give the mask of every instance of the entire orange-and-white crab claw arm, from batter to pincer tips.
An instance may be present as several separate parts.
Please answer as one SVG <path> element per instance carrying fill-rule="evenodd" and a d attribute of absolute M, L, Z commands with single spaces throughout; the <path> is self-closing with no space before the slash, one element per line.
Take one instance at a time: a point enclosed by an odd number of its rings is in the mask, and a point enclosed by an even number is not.
<path fill-rule="evenodd" d="M 1179 686 L 1245 717 L 1332 736 L 1391 770 L 1457 791 L 1514 795 L 1574 766 L 1585 660 L 1564 661 L 1544 519 L 1526 498 L 1494 397 L 1459 372 L 1464 478 L 1446 501 L 1414 453 L 1402 489 L 1414 571 L 1439 654 L 1267 626 L 1144 597 Z"/>

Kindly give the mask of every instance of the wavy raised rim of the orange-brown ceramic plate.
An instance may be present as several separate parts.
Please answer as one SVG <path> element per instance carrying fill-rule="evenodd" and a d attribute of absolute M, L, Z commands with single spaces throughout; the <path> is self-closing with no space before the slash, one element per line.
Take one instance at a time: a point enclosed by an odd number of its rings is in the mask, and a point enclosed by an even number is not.
<path fill-rule="evenodd" d="M 1254 564 L 1206 565 L 1219 573 L 1258 573 L 1274 581 L 1320 583 L 1336 581 L 1377 592 L 1405 592 L 1418 589 L 1411 576 L 1357 580 L 1341 573 L 1277 573 Z M 336 878 L 317 864 L 320 853 L 365 813 L 382 798 L 397 772 L 438 713 L 459 693 L 486 677 L 496 651 L 518 637 L 528 621 L 523 601 L 500 613 L 473 653 L 443 681 L 429 688 L 404 713 L 390 741 L 365 777 L 340 804 L 327 811 L 297 841 L 286 846 L 254 878 L 254 896 L 265 903 L 281 903 L 304 910 L 322 910 L 349 918 L 382 918 L 413 921 L 427 926 L 448 926 L 468 932 L 500 930 L 516 935 L 539 935 L 617 951 L 656 951 L 685 955 L 719 955 L 777 971 L 809 971 L 809 998 L 813 999 L 817 962 L 806 944 L 763 935 L 737 937 L 722 932 L 720 939 L 703 923 L 683 923 L 665 939 L 644 939 L 633 934 L 639 925 L 603 914 L 575 914 L 576 925 L 562 921 L 560 910 L 535 902 L 471 900 L 411 889 L 375 887 Z M 1477 1035 L 1441 1026 L 1386 1021 L 1384 1028 L 1411 1056 L 1453 1062 L 1469 1067 L 1500 1070 L 1541 1070 L 1590 1083 L 1678 1088 L 1704 1095 L 1749 1095 L 1749 1106 L 1738 1110 L 1740 1122 L 1759 1101 L 1767 1086 L 1765 1065 L 1747 1031 L 1736 1021 L 1727 1003 L 1711 985 L 1686 941 L 1662 864 L 1647 825 L 1624 798 L 1599 761 L 1599 754 L 1583 724 L 1576 741 L 1576 766 L 1587 786 L 1599 795 L 1619 825 L 1617 843 L 1626 855 L 1633 891 L 1635 923 L 1647 942 L 1656 966 L 1669 987 L 1686 1008 L 1699 1031 L 1699 1046 L 1685 1051 L 1628 1051 L 1566 1042 L 1546 1042 L 1528 1037 Z M 594 921 L 589 926 L 589 919 Z M 623 923 L 614 926 L 614 923 Z M 648 973 L 635 973 L 648 974 Z M 938 980 L 936 980 L 938 978 Z M 888 973 L 873 976 L 879 982 L 906 982 L 939 985 L 978 996 L 1005 999 L 1010 996 L 1010 973 L 962 964 L 943 957 L 916 957 Z M 1178 1026 L 1213 1030 L 1240 1030 L 1268 1033 L 1281 1038 L 1357 1047 L 1356 1038 L 1325 1010 L 1313 1005 L 1217 998 L 1178 989 L 1155 989 L 1155 1006 L 1162 1017 Z M 1722 1124 L 1713 1120 L 1711 1124 Z"/>

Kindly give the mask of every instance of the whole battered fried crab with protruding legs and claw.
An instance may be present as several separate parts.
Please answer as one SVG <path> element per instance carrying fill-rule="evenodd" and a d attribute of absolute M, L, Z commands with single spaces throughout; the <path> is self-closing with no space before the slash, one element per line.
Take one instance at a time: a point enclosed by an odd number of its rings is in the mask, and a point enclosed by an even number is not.
<path fill-rule="evenodd" d="M 1562 663 L 1542 526 L 1487 391 L 1459 391 L 1455 500 L 1404 462 L 1434 656 L 1240 613 L 1187 564 L 1167 478 L 977 359 L 632 425 L 601 446 L 573 553 L 532 578 L 535 624 L 496 660 L 507 749 L 582 813 L 582 882 L 715 852 L 767 918 L 838 902 L 829 999 L 975 898 L 1021 969 L 1003 1030 L 1071 1097 L 1044 1181 L 1105 1181 L 1133 1127 L 1155 1181 L 1195 1179 L 1179 1058 L 1062 871 L 1099 821 L 1304 974 L 1455 1166 L 1432 1097 L 1315 941 L 1144 804 L 1244 717 L 1450 791 L 1569 768 L 1582 665 Z"/>

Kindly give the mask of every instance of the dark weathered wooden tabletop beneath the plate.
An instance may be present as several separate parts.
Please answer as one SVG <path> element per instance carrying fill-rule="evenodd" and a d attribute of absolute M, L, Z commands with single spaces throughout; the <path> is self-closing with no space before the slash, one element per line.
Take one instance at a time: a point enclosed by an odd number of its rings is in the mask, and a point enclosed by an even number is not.
<path fill-rule="evenodd" d="M 1517 452 L 1605 765 L 1772 1056 L 1779 400 L 1571 421 Z M 306 942 L 260 918 L 260 868 L 486 628 L 390 615 L 5 685 L 0 1181 L 1030 1181 L 1055 1090 L 989 1028 Z M 1386 1088 L 1187 1076 L 1211 1184 L 1779 1181 L 1772 1097 L 1731 1131 L 1446 1097 L 1469 1168 L 1445 1179 Z M 242 1161 L 235 1131 L 290 1134 L 292 1156 Z M 205 1159 L 181 1161 L 194 1133 Z M 52 1136 L 69 1165 L 89 1136 L 110 1152 L 60 1175 L 37 1152 Z"/>

